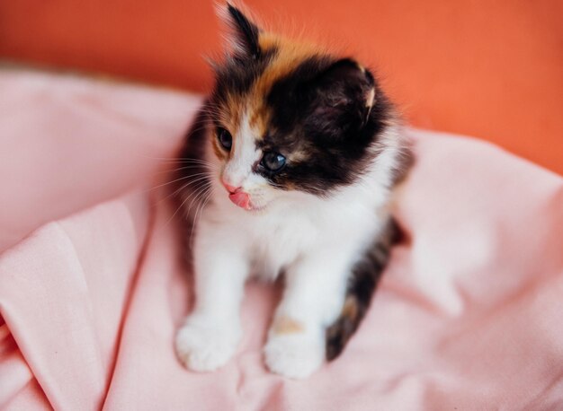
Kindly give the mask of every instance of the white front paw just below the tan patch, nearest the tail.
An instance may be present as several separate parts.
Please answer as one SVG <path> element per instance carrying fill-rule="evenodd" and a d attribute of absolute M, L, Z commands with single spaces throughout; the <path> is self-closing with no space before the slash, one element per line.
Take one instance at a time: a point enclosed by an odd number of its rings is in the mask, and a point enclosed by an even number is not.
<path fill-rule="evenodd" d="M 264 347 L 271 372 L 289 378 L 306 378 L 325 361 L 325 340 L 308 334 L 273 335 Z"/>

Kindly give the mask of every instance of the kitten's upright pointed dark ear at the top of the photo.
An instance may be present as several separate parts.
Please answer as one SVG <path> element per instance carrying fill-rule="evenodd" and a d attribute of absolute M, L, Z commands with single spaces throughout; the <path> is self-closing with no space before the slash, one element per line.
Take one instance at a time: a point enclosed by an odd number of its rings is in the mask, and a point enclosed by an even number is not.
<path fill-rule="evenodd" d="M 233 4 L 218 4 L 217 13 L 227 23 L 230 33 L 228 41 L 234 56 L 241 60 L 257 60 L 262 56 L 258 42 L 260 29 Z"/>

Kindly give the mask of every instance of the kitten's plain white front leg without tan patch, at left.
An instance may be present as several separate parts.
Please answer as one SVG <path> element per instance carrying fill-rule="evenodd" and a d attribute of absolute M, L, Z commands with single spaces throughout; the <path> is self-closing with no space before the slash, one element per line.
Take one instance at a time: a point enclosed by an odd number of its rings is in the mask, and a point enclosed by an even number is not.
<path fill-rule="evenodd" d="M 240 241 L 200 225 L 194 247 L 195 308 L 176 335 L 176 353 L 191 370 L 216 370 L 242 336 L 239 308 L 248 266 Z"/>

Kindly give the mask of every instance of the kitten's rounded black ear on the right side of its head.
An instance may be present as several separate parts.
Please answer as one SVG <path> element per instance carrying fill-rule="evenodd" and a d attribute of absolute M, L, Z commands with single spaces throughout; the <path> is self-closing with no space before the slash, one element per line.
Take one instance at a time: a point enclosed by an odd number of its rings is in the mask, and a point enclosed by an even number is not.
<path fill-rule="evenodd" d="M 373 75 L 350 58 L 328 66 L 311 86 L 309 109 L 327 136 L 360 130 L 377 98 Z"/>

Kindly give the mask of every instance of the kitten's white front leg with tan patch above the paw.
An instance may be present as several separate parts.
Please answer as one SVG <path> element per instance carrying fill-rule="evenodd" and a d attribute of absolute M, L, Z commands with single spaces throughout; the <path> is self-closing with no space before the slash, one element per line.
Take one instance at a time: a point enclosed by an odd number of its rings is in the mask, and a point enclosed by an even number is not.
<path fill-rule="evenodd" d="M 350 260 L 342 249 L 330 249 L 289 267 L 264 347 L 265 362 L 272 372 L 304 378 L 324 362 L 326 327 L 342 310 Z"/>

